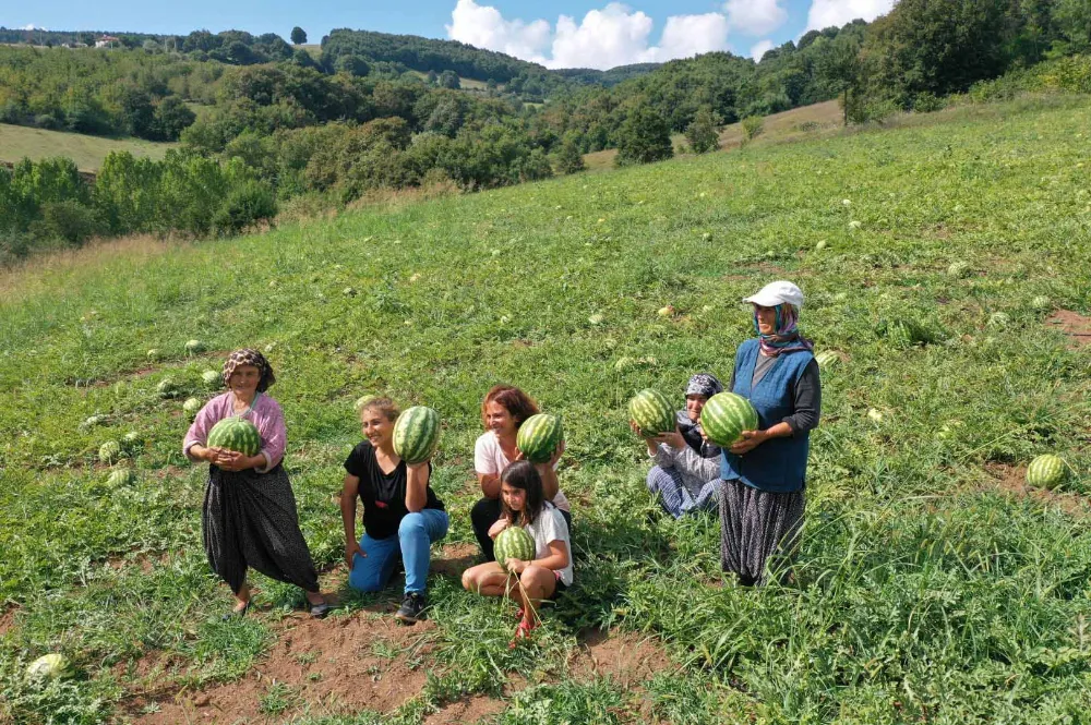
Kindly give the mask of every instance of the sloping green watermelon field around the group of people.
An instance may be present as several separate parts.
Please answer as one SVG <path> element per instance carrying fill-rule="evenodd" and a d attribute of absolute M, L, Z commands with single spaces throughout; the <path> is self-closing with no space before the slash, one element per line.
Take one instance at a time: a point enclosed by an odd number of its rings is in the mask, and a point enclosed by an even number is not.
<path fill-rule="evenodd" d="M 626 407 L 726 380 L 740 299 L 775 279 L 831 354 L 799 559 L 752 590 L 721 575 L 715 517 L 655 515 Z M 1089 336 L 1086 97 L 4 273 L 0 722 L 1091 722 Z M 261 577 L 220 620 L 182 404 L 240 347 L 276 370 L 325 620 Z M 575 584 L 514 650 L 514 606 L 458 580 L 499 382 L 562 418 L 574 516 Z M 443 421 L 452 528 L 411 628 L 400 578 L 345 588 L 369 392 Z M 1041 454 L 1055 490 L 1024 485 Z M 68 677 L 25 675 L 51 652 Z"/>

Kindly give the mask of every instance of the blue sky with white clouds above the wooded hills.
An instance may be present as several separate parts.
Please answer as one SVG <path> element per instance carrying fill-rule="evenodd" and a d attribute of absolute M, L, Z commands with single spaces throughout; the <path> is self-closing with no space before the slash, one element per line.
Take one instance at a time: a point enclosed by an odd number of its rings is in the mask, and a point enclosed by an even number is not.
<path fill-rule="evenodd" d="M 35 0 L 0 4 L 0 25 L 49 29 L 188 33 L 228 28 L 312 43 L 335 27 L 454 38 L 551 67 L 609 68 L 708 50 L 759 56 L 810 26 L 872 20 L 895 0 Z M 454 13 L 454 15 L 453 15 Z"/>

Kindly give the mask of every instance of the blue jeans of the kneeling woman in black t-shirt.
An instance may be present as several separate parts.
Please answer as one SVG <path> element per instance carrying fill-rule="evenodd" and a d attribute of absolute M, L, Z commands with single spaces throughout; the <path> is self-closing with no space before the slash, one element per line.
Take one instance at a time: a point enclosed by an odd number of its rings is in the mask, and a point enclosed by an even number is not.
<path fill-rule="evenodd" d="M 377 592 L 394 576 L 398 559 L 405 561 L 406 594 L 423 593 L 428 582 L 430 547 L 447 535 L 451 519 L 446 511 L 425 508 L 419 513 L 407 513 L 398 525 L 397 536 L 372 539 L 363 534 L 360 548 L 367 556 L 352 557 L 352 571 L 348 585 L 361 592 Z"/>

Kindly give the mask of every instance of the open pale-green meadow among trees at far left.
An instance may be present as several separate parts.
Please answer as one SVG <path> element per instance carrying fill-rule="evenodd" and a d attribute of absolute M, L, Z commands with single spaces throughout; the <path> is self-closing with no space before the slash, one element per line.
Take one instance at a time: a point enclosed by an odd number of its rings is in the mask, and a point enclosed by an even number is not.
<path fill-rule="evenodd" d="M 67 156 L 75 161 L 81 171 L 97 171 L 110 152 L 129 152 L 133 156 L 161 159 L 167 149 L 176 145 L 140 138 L 104 138 L 82 133 L 0 123 L 0 161 L 11 164 L 24 157 L 37 161 L 47 157 Z"/>

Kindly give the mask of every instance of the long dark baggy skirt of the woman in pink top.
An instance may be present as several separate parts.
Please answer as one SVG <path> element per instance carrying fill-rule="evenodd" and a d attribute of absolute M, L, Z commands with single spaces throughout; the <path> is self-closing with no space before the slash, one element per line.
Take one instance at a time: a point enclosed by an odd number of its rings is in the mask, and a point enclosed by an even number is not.
<path fill-rule="evenodd" d="M 299 530 L 291 482 L 284 467 L 268 473 L 209 467 L 201 524 L 208 564 L 236 594 L 247 568 L 319 591 L 319 576 Z"/>

